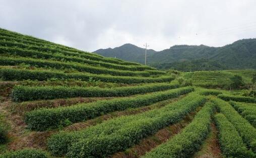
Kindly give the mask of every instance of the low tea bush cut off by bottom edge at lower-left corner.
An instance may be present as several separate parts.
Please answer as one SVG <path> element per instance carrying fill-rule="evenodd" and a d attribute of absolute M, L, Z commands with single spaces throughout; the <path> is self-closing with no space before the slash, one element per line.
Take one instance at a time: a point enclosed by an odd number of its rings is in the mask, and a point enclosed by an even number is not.
<path fill-rule="evenodd" d="M 1 158 L 47 158 L 45 152 L 36 149 L 22 149 L 0 155 Z"/>

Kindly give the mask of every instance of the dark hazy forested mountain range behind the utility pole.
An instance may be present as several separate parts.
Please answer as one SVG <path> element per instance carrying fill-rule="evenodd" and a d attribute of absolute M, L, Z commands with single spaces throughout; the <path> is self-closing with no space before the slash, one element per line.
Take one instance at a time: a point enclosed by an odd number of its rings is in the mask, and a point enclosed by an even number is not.
<path fill-rule="evenodd" d="M 256 39 L 244 39 L 223 47 L 175 45 L 163 51 L 148 50 L 147 63 L 160 69 L 182 71 L 256 69 Z M 95 51 L 106 57 L 144 63 L 145 49 L 125 44 Z"/>

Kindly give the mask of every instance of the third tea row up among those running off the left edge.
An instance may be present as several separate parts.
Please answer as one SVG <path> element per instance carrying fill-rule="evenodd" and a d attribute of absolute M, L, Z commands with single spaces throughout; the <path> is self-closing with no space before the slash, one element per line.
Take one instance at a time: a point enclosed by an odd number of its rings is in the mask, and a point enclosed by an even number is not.
<path fill-rule="evenodd" d="M 86 58 L 79 58 L 75 56 L 66 56 L 61 54 L 50 54 L 48 52 L 39 52 L 36 50 L 26 50 L 21 48 L 10 48 L 10 47 L 1 47 L 0 46 L 0 53 L 1 54 L 11 54 L 11 55 L 18 55 L 20 57 L 31 57 L 31 58 L 42 58 L 42 59 L 56 59 L 56 60 L 65 60 L 65 61 L 71 61 L 71 62 L 79 62 L 79 63 L 85 63 L 93 66 L 102 66 L 105 68 L 111 68 L 111 69 L 118 69 L 118 70 L 130 70 L 130 71 L 144 71 L 144 70 L 154 70 L 151 67 L 146 66 L 134 66 L 134 65 L 118 65 L 118 64 L 111 64 L 101 61 L 95 61 L 90 60 Z M 165 74 L 163 71 L 154 70 L 153 72 L 159 74 Z"/>

